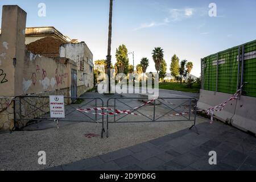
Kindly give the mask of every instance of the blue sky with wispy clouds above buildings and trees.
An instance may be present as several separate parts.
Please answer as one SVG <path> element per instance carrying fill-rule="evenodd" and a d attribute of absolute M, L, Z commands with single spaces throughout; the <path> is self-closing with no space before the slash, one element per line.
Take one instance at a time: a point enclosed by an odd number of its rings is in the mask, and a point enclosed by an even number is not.
<path fill-rule="evenodd" d="M 38 16 L 39 3 L 46 5 L 46 16 Z M 210 3 L 216 16 L 209 16 Z M 54 26 L 84 41 L 94 61 L 106 59 L 109 0 L 0 0 L 0 5 L 20 6 L 27 12 L 27 27 Z M 200 76 L 201 58 L 256 39 L 255 7 L 255 0 L 114 0 L 112 61 L 115 49 L 125 44 L 134 51 L 135 65 L 147 57 L 147 72 L 155 72 L 152 49 L 162 47 L 168 73 L 176 54 L 192 61 L 192 75 Z M 129 61 L 133 64 L 132 55 Z"/>

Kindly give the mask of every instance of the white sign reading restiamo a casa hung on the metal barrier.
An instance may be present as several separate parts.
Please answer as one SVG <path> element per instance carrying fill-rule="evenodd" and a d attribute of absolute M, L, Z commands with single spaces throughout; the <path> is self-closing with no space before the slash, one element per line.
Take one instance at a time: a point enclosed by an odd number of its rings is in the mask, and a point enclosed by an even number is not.
<path fill-rule="evenodd" d="M 65 118 L 64 96 L 49 96 L 51 118 Z"/>

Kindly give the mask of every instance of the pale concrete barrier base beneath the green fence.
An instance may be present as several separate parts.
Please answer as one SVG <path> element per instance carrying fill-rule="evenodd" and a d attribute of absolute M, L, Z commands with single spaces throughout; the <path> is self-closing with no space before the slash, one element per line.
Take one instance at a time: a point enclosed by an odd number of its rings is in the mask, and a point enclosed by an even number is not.
<path fill-rule="evenodd" d="M 208 109 L 228 100 L 232 94 L 200 90 L 197 106 Z M 214 111 L 214 117 L 228 122 L 238 129 L 256 134 L 256 98 L 241 96 L 238 100 L 228 102 L 222 111 Z"/>

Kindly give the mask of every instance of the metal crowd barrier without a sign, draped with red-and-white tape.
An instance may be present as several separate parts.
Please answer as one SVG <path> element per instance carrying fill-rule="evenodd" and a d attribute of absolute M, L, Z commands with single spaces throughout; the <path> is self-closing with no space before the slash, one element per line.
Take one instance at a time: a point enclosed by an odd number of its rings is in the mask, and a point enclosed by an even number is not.
<path fill-rule="evenodd" d="M 125 102 L 125 100 L 128 100 Z M 118 114 L 107 114 L 106 115 L 106 137 L 109 136 L 109 123 L 139 123 L 139 122 L 177 122 L 177 121 L 193 121 L 193 125 L 189 128 L 195 127 L 196 129 L 196 102 L 195 98 L 158 98 L 156 100 L 150 101 L 150 103 L 146 103 L 143 106 L 138 106 L 138 100 L 144 101 L 148 100 L 148 97 L 120 97 L 120 98 L 109 98 L 107 102 L 107 107 L 113 107 L 113 111 Z M 173 100 L 170 102 L 170 100 Z M 112 104 L 110 103 L 111 101 Z M 129 102 L 133 103 L 134 106 L 129 105 Z M 125 106 L 125 108 L 129 108 L 128 110 L 123 109 L 123 106 L 117 106 L 117 102 L 121 105 Z M 192 102 L 195 102 L 192 106 Z M 137 105 L 136 105 L 137 104 Z M 187 105 L 186 105 L 187 104 Z M 158 105 L 162 105 L 159 107 Z M 148 115 L 148 110 L 140 110 L 144 109 L 144 107 L 150 106 L 152 109 L 151 115 Z M 162 110 L 162 111 L 158 111 Z M 166 111 L 167 110 L 167 111 Z M 185 110 L 185 111 L 184 111 Z M 166 112 L 164 112 L 166 111 Z M 173 114 L 170 114 L 174 111 Z M 158 114 L 162 112 L 163 114 Z M 121 114 L 120 114 L 121 113 Z M 135 117 L 135 121 L 133 121 Z M 164 117 L 168 117 L 164 120 Z M 124 120 L 124 118 L 126 118 Z M 145 121 L 143 118 L 146 118 Z M 173 119 L 172 119 L 173 118 Z M 198 131 L 196 129 L 196 133 Z"/>

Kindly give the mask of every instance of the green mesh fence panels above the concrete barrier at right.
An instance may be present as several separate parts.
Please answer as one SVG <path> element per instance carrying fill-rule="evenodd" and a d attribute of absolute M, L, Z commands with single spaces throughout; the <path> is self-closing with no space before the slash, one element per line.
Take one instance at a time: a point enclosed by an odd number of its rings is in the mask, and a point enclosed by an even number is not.
<path fill-rule="evenodd" d="M 240 56 L 242 58 L 242 46 L 240 46 Z M 218 52 L 203 59 L 203 80 L 204 89 L 233 94 L 237 90 L 241 81 L 241 65 L 238 72 L 239 46 Z M 243 82 L 247 82 L 243 87 L 243 95 L 256 97 L 256 40 L 244 44 L 244 69 Z M 242 64 L 242 61 L 240 62 Z M 216 77 L 218 66 L 218 84 L 216 89 Z M 239 76 L 238 76 L 239 75 Z"/>

